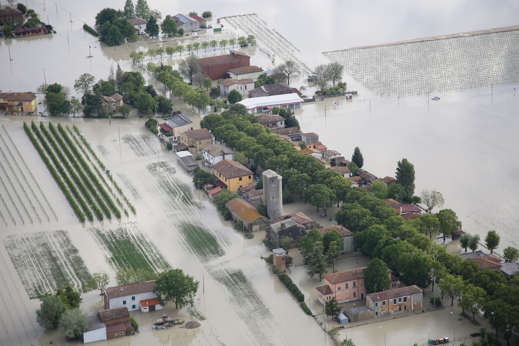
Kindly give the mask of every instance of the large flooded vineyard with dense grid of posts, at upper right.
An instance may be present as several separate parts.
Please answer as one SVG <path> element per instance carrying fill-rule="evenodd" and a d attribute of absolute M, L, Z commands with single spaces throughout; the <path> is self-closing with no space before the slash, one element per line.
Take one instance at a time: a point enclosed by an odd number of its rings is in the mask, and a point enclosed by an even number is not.
<path fill-rule="evenodd" d="M 323 54 L 376 95 L 425 95 L 519 82 L 518 41 L 516 29 Z"/>

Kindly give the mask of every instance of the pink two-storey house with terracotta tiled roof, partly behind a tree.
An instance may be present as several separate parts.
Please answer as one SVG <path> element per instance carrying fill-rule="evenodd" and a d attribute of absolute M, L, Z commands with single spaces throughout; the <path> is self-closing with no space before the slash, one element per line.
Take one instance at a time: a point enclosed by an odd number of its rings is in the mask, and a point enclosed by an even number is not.
<path fill-rule="evenodd" d="M 366 289 L 364 288 L 364 268 L 339 271 L 337 273 L 323 275 L 324 286 L 316 287 L 317 300 L 321 303 L 333 297 L 340 303 L 364 299 Z M 391 279 L 391 288 L 398 288 L 398 278 L 391 274 L 388 269 L 388 276 Z"/>

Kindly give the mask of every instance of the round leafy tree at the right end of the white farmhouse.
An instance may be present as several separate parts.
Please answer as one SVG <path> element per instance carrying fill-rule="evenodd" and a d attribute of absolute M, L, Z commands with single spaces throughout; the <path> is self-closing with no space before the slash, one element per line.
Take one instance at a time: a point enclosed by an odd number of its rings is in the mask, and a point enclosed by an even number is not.
<path fill-rule="evenodd" d="M 175 303 L 175 309 L 185 306 L 193 306 L 199 281 L 194 276 L 184 274 L 182 269 L 170 269 L 160 273 L 155 281 L 152 292 L 157 295 L 160 305 L 166 306 L 168 302 Z"/>

